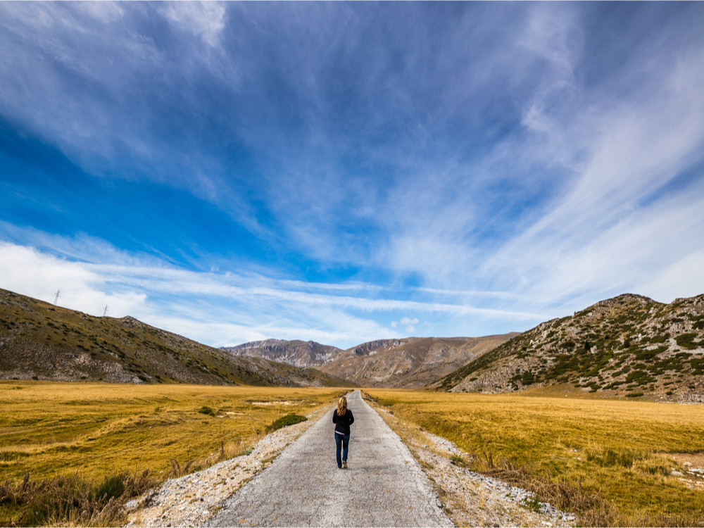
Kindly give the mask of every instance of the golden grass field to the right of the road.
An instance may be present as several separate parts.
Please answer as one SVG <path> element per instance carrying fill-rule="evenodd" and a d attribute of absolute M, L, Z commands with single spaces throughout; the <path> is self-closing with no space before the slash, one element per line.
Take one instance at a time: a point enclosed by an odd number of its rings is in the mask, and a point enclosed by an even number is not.
<path fill-rule="evenodd" d="M 474 469 L 577 510 L 582 524 L 704 525 L 704 482 L 687 472 L 704 466 L 704 406 L 365 392 L 471 453 Z"/>

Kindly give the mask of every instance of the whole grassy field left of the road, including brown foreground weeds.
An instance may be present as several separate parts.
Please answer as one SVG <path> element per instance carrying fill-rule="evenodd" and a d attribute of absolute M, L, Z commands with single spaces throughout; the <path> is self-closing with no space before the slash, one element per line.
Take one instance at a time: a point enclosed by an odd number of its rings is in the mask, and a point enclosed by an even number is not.
<path fill-rule="evenodd" d="M 340 392 L 0 382 L 0 525 L 114 524 L 135 490 L 246 452 Z"/>

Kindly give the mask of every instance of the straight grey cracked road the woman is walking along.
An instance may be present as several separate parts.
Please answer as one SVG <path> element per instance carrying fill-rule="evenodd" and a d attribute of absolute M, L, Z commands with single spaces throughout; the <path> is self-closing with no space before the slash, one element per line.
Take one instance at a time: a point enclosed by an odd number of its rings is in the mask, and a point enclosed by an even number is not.
<path fill-rule="evenodd" d="M 335 461 L 332 412 L 230 497 L 208 526 L 453 526 L 420 466 L 355 391 L 348 470 Z"/>

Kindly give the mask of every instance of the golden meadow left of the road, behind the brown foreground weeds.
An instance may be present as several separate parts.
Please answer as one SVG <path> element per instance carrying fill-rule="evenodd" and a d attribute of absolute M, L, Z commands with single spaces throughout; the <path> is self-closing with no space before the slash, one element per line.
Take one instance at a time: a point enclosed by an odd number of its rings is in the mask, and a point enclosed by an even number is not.
<path fill-rule="evenodd" d="M 0 382 L 1 480 L 101 477 L 236 455 L 288 413 L 344 389 Z M 208 409 L 212 410 L 209 412 Z"/>

